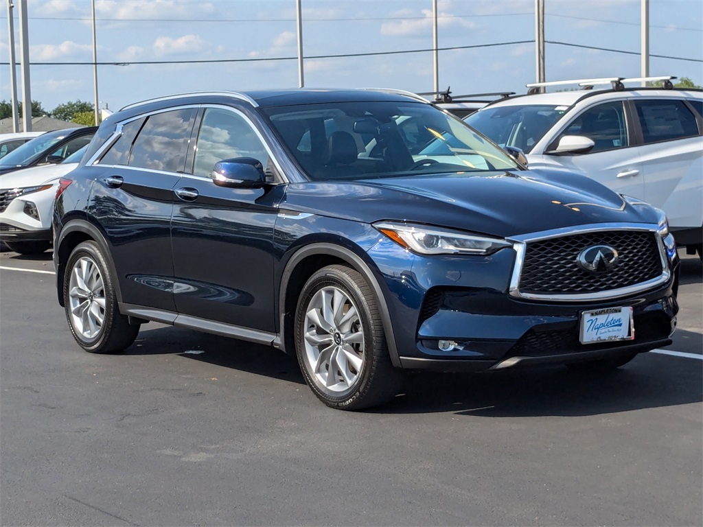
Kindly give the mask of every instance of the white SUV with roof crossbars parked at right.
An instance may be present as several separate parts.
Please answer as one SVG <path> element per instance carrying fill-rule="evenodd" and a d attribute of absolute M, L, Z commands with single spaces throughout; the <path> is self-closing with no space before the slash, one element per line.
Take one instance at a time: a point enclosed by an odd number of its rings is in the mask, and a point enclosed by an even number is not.
<path fill-rule="evenodd" d="M 703 92 L 627 88 L 628 79 L 572 82 L 598 86 L 594 81 L 613 86 L 510 97 L 466 122 L 498 145 L 522 149 L 531 168 L 583 174 L 664 209 L 678 245 L 700 255 Z"/>

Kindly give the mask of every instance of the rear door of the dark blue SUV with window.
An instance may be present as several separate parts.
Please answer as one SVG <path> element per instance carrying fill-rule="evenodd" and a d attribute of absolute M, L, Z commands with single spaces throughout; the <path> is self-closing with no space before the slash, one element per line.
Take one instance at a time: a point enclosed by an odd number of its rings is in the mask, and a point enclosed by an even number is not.
<path fill-rule="evenodd" d="M 124 304 L 175 311 L 173 188 L 197 112 L 176 108 L 118 125 L 119 138 L 98 162 L 88 212 L 110 244 Z"/>

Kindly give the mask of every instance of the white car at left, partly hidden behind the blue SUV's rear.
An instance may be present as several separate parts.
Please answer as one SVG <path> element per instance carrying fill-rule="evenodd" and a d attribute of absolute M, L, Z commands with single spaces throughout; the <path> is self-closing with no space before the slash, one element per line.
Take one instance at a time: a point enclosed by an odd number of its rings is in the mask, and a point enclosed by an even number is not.
<path fill-rule="evenodd" d="M 0 241 L 20 254 L 39 254 L 51 247 L 53 202 L 60 178 L 78 166 L 88 145 L 60 164 L 0 174 Z"/>

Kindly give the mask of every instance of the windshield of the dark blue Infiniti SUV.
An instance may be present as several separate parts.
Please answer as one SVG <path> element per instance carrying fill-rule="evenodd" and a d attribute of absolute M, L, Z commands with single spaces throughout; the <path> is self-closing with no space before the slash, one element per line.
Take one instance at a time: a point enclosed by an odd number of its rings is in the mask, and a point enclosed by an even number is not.
<path fill-rule="evenodd" d="M 325 103 L 264 112 L 316 181 L 517 169 L 503 150 L 430 105 Z"/>

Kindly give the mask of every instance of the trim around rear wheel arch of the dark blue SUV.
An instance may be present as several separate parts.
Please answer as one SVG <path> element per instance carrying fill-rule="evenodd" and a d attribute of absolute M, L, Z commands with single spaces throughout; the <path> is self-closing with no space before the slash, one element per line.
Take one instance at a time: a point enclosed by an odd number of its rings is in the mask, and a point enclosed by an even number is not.
<path fill-rule="evenodd" d="M 58 303 L 63 307 L 63 281 L 66 273 L 66 262 L 68 261 L 73 249 L 82 242 L 92 240 L 96 242 L 105 256 L 105 260 L 110 266 L 110 273 L 115 277 L 115 294 L 117 301 L 122 301 L 122 292 L 120 292 L 120 280 L 117 280 L 117 271 L 115 263 L 110 255 L 110 248 L 107 240 L 101 233 L 101 230 L 87 220 L 74 219 L 67 223 L 60 232 L 59 238 L 54 246 L 54 259 L 56 261 L 56 294 L 58 295 Z"/>

